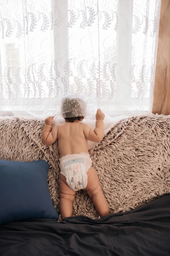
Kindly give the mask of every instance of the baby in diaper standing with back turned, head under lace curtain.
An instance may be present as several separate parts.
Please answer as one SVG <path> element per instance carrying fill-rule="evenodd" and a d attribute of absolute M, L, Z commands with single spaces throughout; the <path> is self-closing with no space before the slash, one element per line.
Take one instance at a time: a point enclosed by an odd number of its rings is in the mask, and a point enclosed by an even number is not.
<path fill-rule="evenodd" d="M 92 197 L 93 204 L 102 217 L 109 214 L 96 170 L 92 167 L 87 140 L 100 142 L 104 137 L 104 113 L 98 109 L 95 129 L 81 123 L 85 115 L 85 101 L 78 97 L 62 101 L 64 124 L 52 130 L 53 117 L 45 119 L 42 134 L 44 145 L 51 145 L 58 139 L 60 152 L 60 213 L 62 218 L 71 217 L 76 191 L 85 189 Z"/>

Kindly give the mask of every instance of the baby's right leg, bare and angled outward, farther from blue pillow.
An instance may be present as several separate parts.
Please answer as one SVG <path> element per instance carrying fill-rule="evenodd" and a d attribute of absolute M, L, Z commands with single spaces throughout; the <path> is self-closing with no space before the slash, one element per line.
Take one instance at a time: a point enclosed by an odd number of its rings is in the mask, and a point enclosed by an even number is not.
<path fill-rule="evenodd" d="M 87 176 L 87 187 L 85 190 L 87 191 L 87 194 L 92 197 L 93 204 L 100 217 L 109 214 L 106 198 L 103 195 L 96 170 L 93 167 L 90 167 Z"/>

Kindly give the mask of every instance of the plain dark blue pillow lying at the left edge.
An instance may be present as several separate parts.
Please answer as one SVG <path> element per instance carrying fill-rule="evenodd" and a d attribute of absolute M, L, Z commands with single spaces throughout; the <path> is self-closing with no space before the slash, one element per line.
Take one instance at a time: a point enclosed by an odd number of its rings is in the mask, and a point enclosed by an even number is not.
<path fill-rule="evenodd" d="M 47 183 L 44 160 L 13 162 L 0 159 L 0 224 L 27 219 L 57 219 Z"/>

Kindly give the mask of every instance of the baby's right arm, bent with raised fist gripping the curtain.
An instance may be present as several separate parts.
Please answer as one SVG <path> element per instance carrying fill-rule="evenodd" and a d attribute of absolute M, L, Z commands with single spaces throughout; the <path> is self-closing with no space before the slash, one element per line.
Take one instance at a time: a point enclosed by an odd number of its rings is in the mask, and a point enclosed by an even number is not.
<path fill-rule="evenodd" d="M 105 114 L 98 109 L 96 113 L 96 127 L 94 130 L 89 125 L 85 125 L 84 135 L 85 137 L 93 142 L 99 142 L 103 139 L 104 133 L 104 120 Z"/>

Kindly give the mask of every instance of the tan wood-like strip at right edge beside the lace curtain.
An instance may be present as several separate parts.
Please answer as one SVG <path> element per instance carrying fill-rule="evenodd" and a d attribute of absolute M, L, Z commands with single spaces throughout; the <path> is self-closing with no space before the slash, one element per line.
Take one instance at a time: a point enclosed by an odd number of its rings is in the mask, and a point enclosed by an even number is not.
<path fill-rule="evenodd" d="M 152 113 L 170 114 L 170 1 L 162 0 Z"/>

